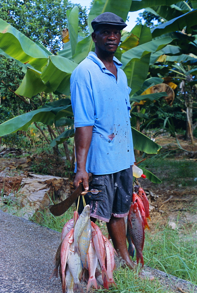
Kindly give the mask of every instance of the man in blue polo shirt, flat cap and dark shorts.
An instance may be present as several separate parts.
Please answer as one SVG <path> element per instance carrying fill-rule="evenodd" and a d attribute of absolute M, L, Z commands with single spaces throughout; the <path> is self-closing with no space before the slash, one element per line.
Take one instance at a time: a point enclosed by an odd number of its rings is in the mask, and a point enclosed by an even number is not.
<path fill-rule="evenodd" d="M 135 161 L 130 127 L 130 88 L 122 64 L 114 57 L 122 18 L 105 12 L 91 22 L 95 52 L 89 52 L 71 76 L 74 112 L 76 176 L 74 187 L 83 182 L 91 220 L 106 222 L 114 248 L 129 268 L 135 265 L 127 250 L 124 216 L 132 199 Z M 88 172 L 93 180 L 88 184 Z M 81 201 L 79 212 L 83 209 Z M 147 277 L 140 272 L 142 278 Z M 151 277 L 150 277 L 151 278 Z"/>

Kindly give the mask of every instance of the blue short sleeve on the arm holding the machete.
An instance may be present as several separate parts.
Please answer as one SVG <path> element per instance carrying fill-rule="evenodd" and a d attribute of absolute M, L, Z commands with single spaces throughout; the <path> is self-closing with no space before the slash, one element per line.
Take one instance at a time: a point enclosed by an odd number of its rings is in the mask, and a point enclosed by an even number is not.
<path fill-rule="evenodd" d="M 79 81 L 71 84 L 71 103 L 74 113 L 74 127 L 94 125 L 94 99 L 92 89 Z"/>

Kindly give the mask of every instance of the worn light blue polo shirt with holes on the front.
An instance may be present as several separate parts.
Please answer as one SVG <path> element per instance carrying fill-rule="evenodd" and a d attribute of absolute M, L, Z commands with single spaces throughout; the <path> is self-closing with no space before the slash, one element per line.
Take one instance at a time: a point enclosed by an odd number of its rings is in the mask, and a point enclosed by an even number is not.
<path fill-rule="evenodd" d="M 70 79 L 74 126 L 93 125 L 86 171 L 95 175 L 119 172 L 135 161 L 129 111 L 131 89 L 120 69 L 122 64 L 116 57 L 113 61 L 117 80 L 94 52 L 89 52 Z"/>

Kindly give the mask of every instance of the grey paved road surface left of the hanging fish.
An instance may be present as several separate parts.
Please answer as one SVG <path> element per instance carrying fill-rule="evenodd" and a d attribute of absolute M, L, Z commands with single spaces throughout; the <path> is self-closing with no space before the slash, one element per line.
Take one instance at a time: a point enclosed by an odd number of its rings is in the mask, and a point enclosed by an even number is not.
<path fill-rule="evenodd" d="M 61 234 L 0 210 L 0 292 L 61 293 L 53 260 Z"/>

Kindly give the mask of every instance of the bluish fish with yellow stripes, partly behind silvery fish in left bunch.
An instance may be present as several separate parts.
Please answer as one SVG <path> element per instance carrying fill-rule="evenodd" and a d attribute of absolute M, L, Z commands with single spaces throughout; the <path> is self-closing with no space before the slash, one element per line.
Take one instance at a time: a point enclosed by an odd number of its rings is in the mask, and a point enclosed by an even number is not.
<path fill-rule="evenodd" d="M 90 240 L 91 240 L 91 221 L 90 219 L 87 220 L 84 229 L 81 233 L 81 237 L 79 238 L 78 248 L 81 255 L 81 262 L 83 268 L 88 268 L 87 264 L 87 253 L 90 246 Z"/>

